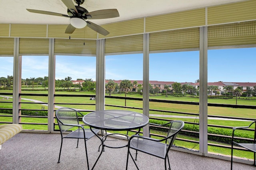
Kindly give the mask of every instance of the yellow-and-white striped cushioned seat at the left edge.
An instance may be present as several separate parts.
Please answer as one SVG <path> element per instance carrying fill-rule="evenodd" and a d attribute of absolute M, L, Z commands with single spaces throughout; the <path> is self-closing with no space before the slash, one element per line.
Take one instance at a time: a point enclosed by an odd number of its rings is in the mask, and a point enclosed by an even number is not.
<path fill-rule="evenodd" d="M 20 131 L 22 131 L 22 125 L 20 124 L 0 125 L 0 149 L 6 140 L 9 140 Z"/>

